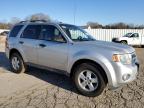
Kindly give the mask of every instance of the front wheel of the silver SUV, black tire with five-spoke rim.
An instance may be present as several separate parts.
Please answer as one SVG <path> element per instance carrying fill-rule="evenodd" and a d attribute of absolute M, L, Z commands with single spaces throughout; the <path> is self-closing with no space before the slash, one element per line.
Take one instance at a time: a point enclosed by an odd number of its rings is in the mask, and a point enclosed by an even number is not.
<path fill-rule="evenodd" d="M 99 96 L 105 89 L 106 83 L 103 76 L 100 74 L 101 71 L 94 64 L 83 63 L 79 65 L 74 72 L 73 80 L 80 94 L 88 97 L 95 97 Z M 91 73 L 91 78 L 86 78 L 89 73 Z M 92 81 L 95 82 L 93 83 Z"/>

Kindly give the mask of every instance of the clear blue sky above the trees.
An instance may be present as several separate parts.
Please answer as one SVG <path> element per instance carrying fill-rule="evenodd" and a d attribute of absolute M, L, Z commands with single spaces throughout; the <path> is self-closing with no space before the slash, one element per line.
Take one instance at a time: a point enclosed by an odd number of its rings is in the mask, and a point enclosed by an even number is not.
<path fill-rule="evenodd" d="M 104 25 L 144 24 L 144 0 L 1 0 L 0 21 L 12 17 L 23 20 L 35 13 L 76 25 L 89 21 Z"/>

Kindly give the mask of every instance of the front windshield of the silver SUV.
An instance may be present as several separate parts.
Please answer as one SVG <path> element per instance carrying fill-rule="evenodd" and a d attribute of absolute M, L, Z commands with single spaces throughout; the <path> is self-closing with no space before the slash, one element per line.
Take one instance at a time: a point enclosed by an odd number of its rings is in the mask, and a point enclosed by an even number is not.
<path fill-rule="evenodd" d="M 82 30 L 77 26 L 60 24 L 60 27 L 73 41 L 95 41 L 95 39 L 92 36 L 90 36 L 86 31 Z"/>

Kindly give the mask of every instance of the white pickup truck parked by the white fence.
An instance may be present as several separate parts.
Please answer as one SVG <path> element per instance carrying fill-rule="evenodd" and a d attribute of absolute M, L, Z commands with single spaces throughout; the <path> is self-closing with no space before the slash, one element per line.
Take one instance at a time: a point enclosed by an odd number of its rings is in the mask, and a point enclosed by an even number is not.
<path fill-rule="evenodd" d="M 122 37 L 113 38 L 112 42 L 117 42 L 117 43 L 122 43 L 127 45 L 143 46 L 144 36 L 139 35 L 139 33 L 127 33 Z"/>

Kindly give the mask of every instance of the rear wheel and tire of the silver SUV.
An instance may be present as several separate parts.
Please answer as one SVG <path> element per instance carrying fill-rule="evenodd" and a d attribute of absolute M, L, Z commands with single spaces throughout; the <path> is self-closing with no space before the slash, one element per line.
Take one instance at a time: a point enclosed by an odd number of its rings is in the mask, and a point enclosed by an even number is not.
<path fill-rule="evenodd" d="M 26 71 L 26 65 L 22 57 L 18 53 L 13 53 L 10 57 L 11 69 L 14 73 L 24 73 Z"/>

